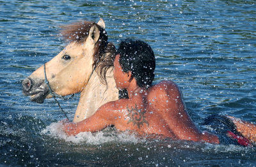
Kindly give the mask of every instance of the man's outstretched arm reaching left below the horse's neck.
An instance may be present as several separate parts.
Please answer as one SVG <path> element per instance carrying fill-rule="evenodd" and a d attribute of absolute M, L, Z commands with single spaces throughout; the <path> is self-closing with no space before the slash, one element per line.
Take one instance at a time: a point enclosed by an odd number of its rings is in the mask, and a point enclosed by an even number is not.
<path fill-rule="evenodd" d="M 113 125 L 114 114 L 113 106 L 115 102 L 108 102 L 103 106 L 99 107 L 96 113 L 85 120 L 78 123 L 64 123 L 65 133 L 70 135 L 76 135 L 79 132 L 97 132 L 109 125 Z"/>

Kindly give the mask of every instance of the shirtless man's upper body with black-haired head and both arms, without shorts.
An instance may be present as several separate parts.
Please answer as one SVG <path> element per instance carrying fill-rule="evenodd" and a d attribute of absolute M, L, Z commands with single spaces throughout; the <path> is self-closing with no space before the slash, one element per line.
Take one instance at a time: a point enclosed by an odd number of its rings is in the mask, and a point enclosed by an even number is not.
<path fill-rule="evenodd" d="M 191 121 L 177 84 L 161 81 L 152 86 L 155 67 L 154 52 L 145 42 L 121 42 L 114 61 L 114 78 L 118 89 L 128 91 L 129 99 L 108 102 L 81 122 L 65 122 L 64 131 L 76 135 L 114 125 L 118 131 L 146 137 L 220 143 L 218 136 L 200 131 Z"/>

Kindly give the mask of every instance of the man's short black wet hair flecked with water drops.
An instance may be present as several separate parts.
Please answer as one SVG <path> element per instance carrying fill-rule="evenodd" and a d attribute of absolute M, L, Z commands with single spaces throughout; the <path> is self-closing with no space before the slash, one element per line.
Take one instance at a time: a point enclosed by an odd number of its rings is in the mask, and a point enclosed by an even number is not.
<path fill-rule="evenodd" d="M 148 88 L 152 85 L 156 59 L 150 45 L 141 40 L 126 39 L 120 43 L 118 54 L 123 71 L 131 71 L 138 86 Z"/>

